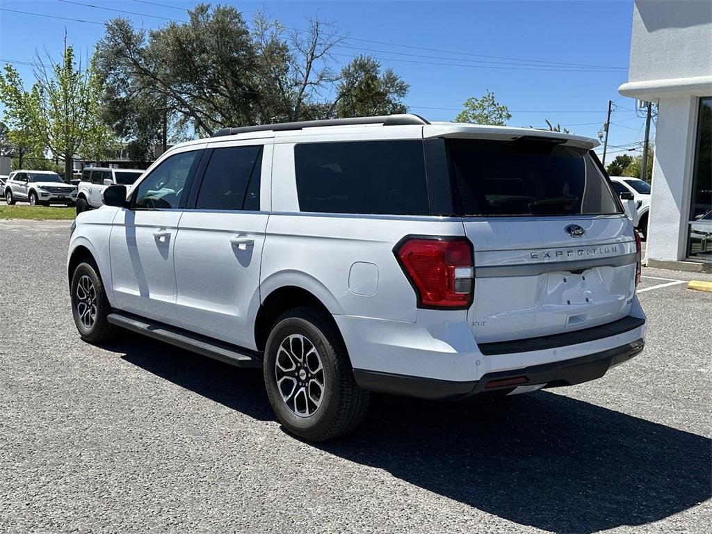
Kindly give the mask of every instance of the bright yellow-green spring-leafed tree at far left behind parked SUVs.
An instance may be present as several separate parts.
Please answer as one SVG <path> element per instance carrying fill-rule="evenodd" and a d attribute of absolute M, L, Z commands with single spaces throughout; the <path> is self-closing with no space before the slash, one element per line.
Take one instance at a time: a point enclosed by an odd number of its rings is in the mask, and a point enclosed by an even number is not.
<path fill-rule="evenodd" d="M 45 65 L 42 61 L 48 61 Z M 62 61 L 48 54 L 37 56 L 36 78 L 25 90 L 19 73 L 10 65 L 0 74 L 0 102 L 4 120 L 14 130 L 16 144 L 31 152 L 48 151 L 62 159 L 66 179 L 72 176 L 75 156 L 98 159 L 112 145 L 113 137 L 100 120 L 101 81 L 93 61 L 77 64 L 74 50 L 64 43 Z M 36 157 L 36 159 L 40 159 Z"/>

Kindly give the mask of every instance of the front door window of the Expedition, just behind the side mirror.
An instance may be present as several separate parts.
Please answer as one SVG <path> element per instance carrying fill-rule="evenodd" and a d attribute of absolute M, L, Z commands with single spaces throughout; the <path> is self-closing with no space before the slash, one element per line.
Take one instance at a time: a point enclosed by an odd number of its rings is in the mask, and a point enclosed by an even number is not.
<path fill-rule="evenodd" d="M 138 185 L 135 209 L 176 209 L 197 151 L 181 152 L 164 159 Z"/>

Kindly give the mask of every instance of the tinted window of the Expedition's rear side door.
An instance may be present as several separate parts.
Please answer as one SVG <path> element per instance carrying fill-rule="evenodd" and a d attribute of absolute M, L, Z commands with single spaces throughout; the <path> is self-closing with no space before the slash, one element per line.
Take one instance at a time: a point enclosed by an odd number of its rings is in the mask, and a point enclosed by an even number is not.
<path fill-rule="evenodd" d="M 261 170 L 261 146 L 216 148 L 195 208 L 258 211 Z"/>

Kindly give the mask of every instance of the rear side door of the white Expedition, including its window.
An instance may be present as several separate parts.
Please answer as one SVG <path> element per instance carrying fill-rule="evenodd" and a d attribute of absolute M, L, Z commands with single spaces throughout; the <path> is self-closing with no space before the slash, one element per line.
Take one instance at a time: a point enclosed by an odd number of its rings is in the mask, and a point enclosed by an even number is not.
<path fill-rule="evenodd" d="M 179 224 L 177 310 L 192 332 L 254 348 L 249 318 L 259 305 L 273 145 L 214 146 Z"/>

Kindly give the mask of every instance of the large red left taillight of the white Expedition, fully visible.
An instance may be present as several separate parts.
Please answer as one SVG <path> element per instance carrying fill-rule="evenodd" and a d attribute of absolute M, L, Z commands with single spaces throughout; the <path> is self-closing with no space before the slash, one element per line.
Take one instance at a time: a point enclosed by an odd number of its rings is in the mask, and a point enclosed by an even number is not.
<path fill-rule="evenodd" d="M 393 251 L 418 297 L 418 308 L 469 308 L 474 289 L 472 245 L 463 238 L 406 237 Z"/>

